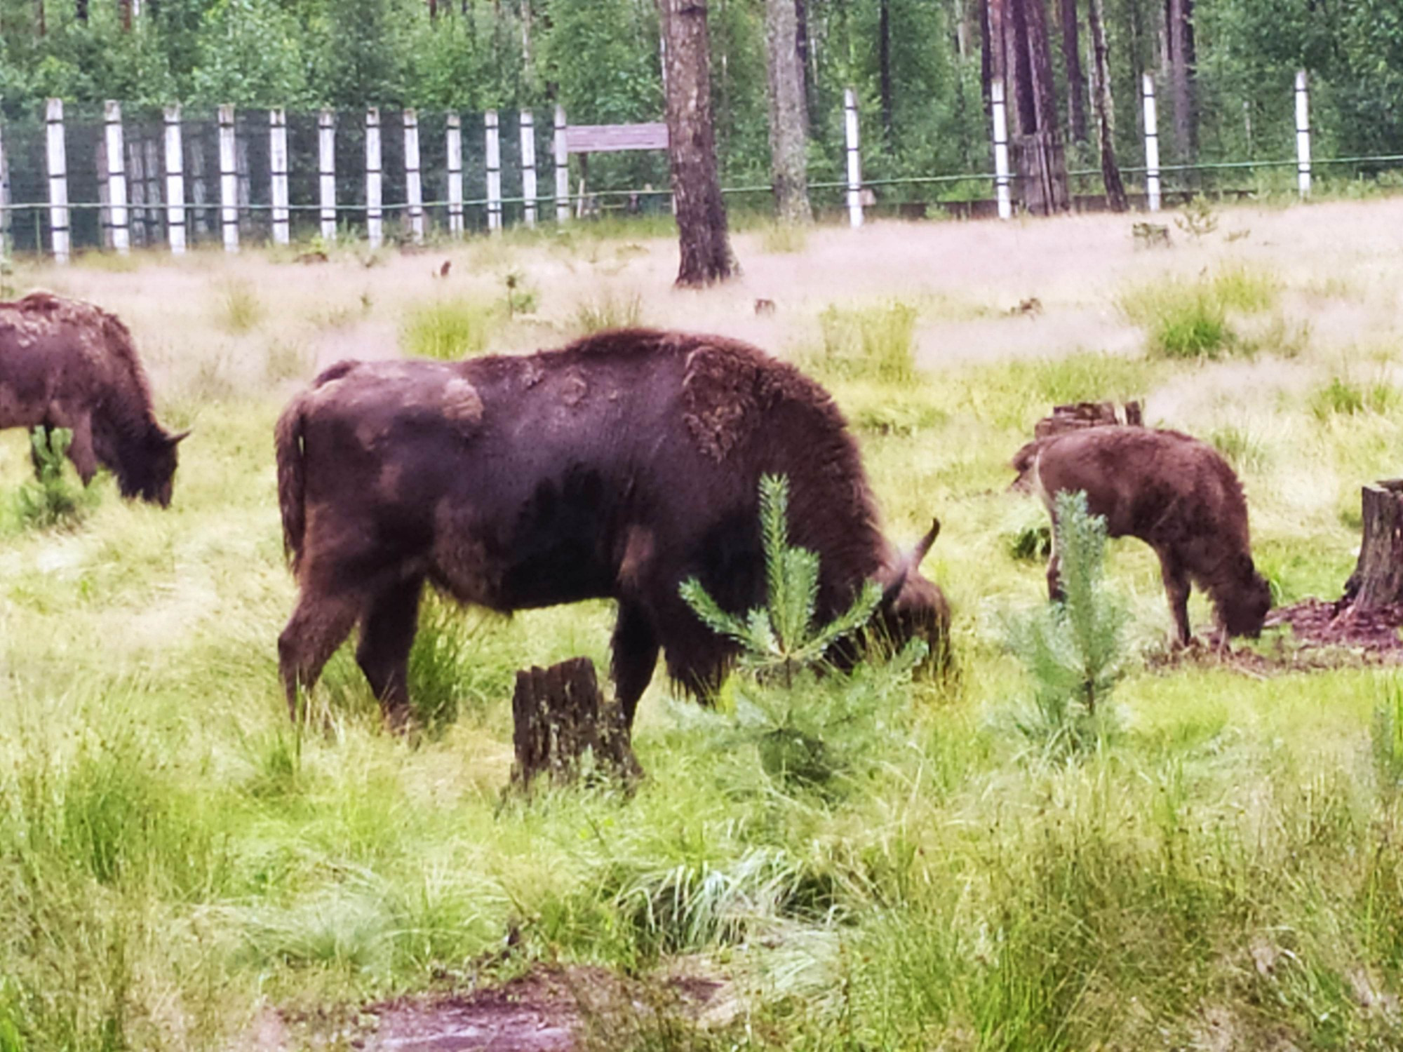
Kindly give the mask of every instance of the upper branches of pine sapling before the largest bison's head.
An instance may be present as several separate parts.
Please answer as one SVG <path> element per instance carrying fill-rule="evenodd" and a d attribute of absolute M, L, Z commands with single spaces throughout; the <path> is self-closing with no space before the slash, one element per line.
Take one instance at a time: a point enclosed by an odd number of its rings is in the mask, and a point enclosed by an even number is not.
<path fill-rule="evenodd" d="M 881 588 L 875 581 L 861 591 L 835 620 L 814 624 L 818 603 L 818 554 L 788 544 L 788 480 L 760 478 L 760 539 L 765 546 L 767 603 L 744 617 L 727 613 L 696 578 L 682 582 L 682 599 L 718 635 L 742 647 L 741 663 L 752 672 L 779 670 L 786 686 L 794 669 L 814 665 L 838 640 L 857 631 L 877 610 Z"/>

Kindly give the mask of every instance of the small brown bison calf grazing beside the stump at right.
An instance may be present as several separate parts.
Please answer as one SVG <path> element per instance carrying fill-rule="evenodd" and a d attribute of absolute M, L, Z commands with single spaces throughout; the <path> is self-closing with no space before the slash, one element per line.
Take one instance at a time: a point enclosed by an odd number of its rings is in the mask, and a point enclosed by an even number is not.
<path fill-rule="evenodd" d="M 1177 431 L 1085 428 L 1030 442 L 1012 466 L 1013 487 L 1037 492 L 1049 513 L 1056 494 L 1082 490 L 1110 536 L 1155 548 L 1181 645 L 1190 581 L 1208 592 L 1229 635 L 1261 631 L 1271 589 L 1251 562 L 1242 484 L 1212 446 Z M 1058 598 L 1055 548 L 1048 591 Z"/>

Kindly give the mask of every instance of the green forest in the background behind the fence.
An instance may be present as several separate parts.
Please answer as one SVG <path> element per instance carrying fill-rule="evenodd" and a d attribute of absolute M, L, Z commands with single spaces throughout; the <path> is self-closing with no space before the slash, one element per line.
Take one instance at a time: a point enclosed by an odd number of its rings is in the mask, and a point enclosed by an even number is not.
<path fill-rule="evenodd" d="M 1092 0 L 796 0 L 810 180 L 840 178 L 856 87 L 871 181 L 989 170 L 989 13 L 1048 38 L 1068 167 L 1096 174 Z M 763 0 L 710 0 L 717 146 L 728 187 L 769 187 Z M 1100 0 L 1121 163 L 1141 163 L 1139 91 L 1160 83 L 1166 166 L 1292 157 L 1292 79 L 1312 77 L 1317 159 L 1403 142 L 1396 0 Z M 231 102 L 247 108 L 544 107 L 572 123 L 662 114 L 648 0 L 0 0 L 0 107 L 36 118 Z M 1365 163 L 1379 164 L 1378 161 Z M 1351 163 L 1354 174 L 1358 164 Z M 1096 187 L 1093 187 L 1093 191 Z M 960 196 L 950 184 L 939 195 Z M 1075 192 L 1075 187 L 1073 187 Z"/>

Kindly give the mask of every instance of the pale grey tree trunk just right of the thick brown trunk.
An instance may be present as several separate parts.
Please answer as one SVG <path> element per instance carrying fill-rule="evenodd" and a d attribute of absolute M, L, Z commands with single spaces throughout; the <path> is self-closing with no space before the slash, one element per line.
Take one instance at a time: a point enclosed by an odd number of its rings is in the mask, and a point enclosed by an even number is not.
<path fill-rule="evenodd" d="M 770 88 L 770 178 L 781 223 L 807 223 L 808 153 L 804 140 L 804 77 L 798 60 L 794 0 L 765 0 L 765 53 Z"/>

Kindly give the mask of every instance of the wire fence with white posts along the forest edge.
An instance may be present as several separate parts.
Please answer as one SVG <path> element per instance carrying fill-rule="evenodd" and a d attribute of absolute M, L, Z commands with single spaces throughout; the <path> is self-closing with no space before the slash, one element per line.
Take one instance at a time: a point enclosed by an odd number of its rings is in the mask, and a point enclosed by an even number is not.
<path fill-rule="evenodd" d="M 1146 91 L 1155 87 L 1146 79 Z M 1207 160 L 1186 163 L 1170 150 L 1172 163 L 1153 164 L 1149 140 L 1143 137 L 1143 116 L 1135 132 L 1141 150 L 1125 149 L 1125 142 L 1138 143 L 1127 139 L 1122 130 L 1122 160 L 1135 161 L 1121 166 L 1132 202 L 1155 208 L 1160 201 L 1173 203 L 1191 194 L 1243 196 L 1292 185 L 1305 188 L 1312 174 L 1374 182 L 1393 173 L 1385 178 L 1399 181 L 1396 170 L 1403 167 L 1403 151 L 1330 156 L 1334 136 L 1327 129 L 1322 133 L 1320 128 L 1310 128 L 1302 111 L 1292 114 L 1289 86 L 1275 93 L 1270 105 L 1253 100 L 1240 107 L 1235 98 L 1211 88 L 1209 84 L 1204 91 L 1207 133 L 1198 151 Z M 1320 94 L 1324 114 L 1338 112 L 1340 104 L 1331 101 L 1329 88 Z M 1299 84 L 1295 105 L 1302 105 Z M 1223 118 L 1235 108 L 1240 109 L 1236 123 Z M 417 121 L 407 121 L 411 114 Z M 532 217 L 550 220 L 564 215 L 671 208 L 662 153 L 581 154 L 572 160 L 567 156 L 567 167 L 560 168 L 563 146 L 557 143 L 557 128 L 550 121 L 533 121 L 525 132 L 535 153 L 535 164 L 528 166 L 522 149 L 523 115 L 516 111 L 379 111 L 377 168 L 372 167 L 373 159 L 366 150 L 368 114 L 338 111 L 331 114 L 330 171 L 323 170 L 321 156 L 324 112 L 290 112 L 286 115 L 282 205 L 275 189 L 279 175 L 274 171 L 271 111 L 234 111 L 231 128 L 223 132 L 227 139 L 222 140 L 216 109 L 188 108 L 178 115 L 178 146 L 173 151 L 166 112 L 122 107 L 118 118 L 121 159 L 108 156 L 114 142 L 108 116 L 98 107 L 69 107 L 59 125 L 58 160 L 53 122 L 45 115 L 21 114 L 0 122 L 0 248 L 66 257 L 70 250 L 121 251 L 123 241 L 137 247 L 168 241 L 174 247 L 173 216 L 174 224 L 182 227 L 182 243 L 224 241 L 227 245 L 229 222 L 224 220 L 233 222 L 240 243 L 268 241 L 279 240 L 279 215 L 286 216 L 283 240 L 310 241 L 323 236 L 327 231 L 324 220 L 334 216 L 334 236 L 376 241 L 379 237 L 419 240 L 459 230 L 488 230 Z M 563 116 L 558 121 L 563 123 Z M 414 128 L 412 146 L 410 126 Z M 840 137 L 835 137 L 835 128 Z M 852 121 L 818 123 L 814 171 L 842 174 L 847 166 L 846 178 L 818 178 L 810 184 L 819 213 L 846 210 L 854 223 L 871 210 L 904 216 L 925 216 L 937 209 L 971 217 L 1006 215 L 1007 209 L 1000 212 L 993 192 L 1000 177 L 1012 188 L 1010 199 L 1019 196 L 1016 173 L 904 174 L 881 144 L 871 151 L 871 171 L 863 177 L 860 170 L 867 159 L 856 137 L 850 137 L 856 136 L 856 112 Z M 1324 143 L 1324 156 L 1310 156 L 1312 133 L 1317 144 Z M 457 150 L 455 135 L 460 142 Z M 1172 136 L 1160 135 L 1160 139 L 1173 147 Z M 407 164 L 414 147 L 418 151 L 418 194 L 412 189 L 412 166 Z M 1403 150 L 1403 143 L 1397 147 Z M 1236 151 L 1240 153 L 1235 156 Z M 460 156 L 459 167 L 450 167 L 455 153 Z M 1073 167 L 1068 175 L 1073 205 L 1094 209 L 1104 205 L 1101 173 L 1099 167 L 1075 164 L 1085 153 L 1075 146 L 1069 149 Z M 497 180 L 488 171 L 488 159 L 494 154 Z M 991 150 L 989 156 L 996 154 L 998 150 Z M 523 191 L 529 182 L 528 168 L 536 177 L 536 194 L 530 198 Z M 58 177 L 62 188 L 56 187 L 56 173 L 62 173 Z M 1301 182 L 1302 173 L 1306 182 Z M 373 202 L 372 174 L 379 182 L 379 206 Z M 725 187 L 723 192 L 741 206 L 767 208 L 772 187 L 752 181 Z M 114 194 L 118 195 L 115 202 Z M 56 208 L 60 198 L 66 198 L 65 210 Z M 383 233 L 373 222 L 377 213 L 383 215 Z M 412 222 L 417 215 L 422 215 L 422 226 Z M 498 216 L 501 223 L 495 222 Z M 122 237 L 115 236 L 119 227 L 126 230 Z"/>

